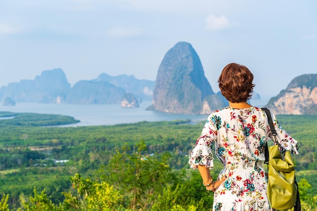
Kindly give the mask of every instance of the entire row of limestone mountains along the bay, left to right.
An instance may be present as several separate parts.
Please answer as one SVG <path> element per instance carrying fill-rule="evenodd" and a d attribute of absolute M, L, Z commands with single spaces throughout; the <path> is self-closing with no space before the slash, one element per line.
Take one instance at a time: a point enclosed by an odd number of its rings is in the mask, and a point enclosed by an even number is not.
<path fill-rule="evenodd" d="M 260 99 L 253 93 L 253 100 Z M 3 105 L 19 102 L 65 104 L 120 104 L 138 107 L 152 100 L 147 110 L 168 113 L 209 114 L 228 105 L 214 93 L 205 77 L 203 65 L 193 47 L 179 42 L 164 56 L 155 81 L 133 75 L 100 74 L 96 79 L 80 80 L 73 87 L 62 69 L 45 70 L 33 80 L 21 80 L 0 88 Z M 294 78 L 285 90 L 269 100 L 274 114 L 317 114 L 317 74 Z"/>

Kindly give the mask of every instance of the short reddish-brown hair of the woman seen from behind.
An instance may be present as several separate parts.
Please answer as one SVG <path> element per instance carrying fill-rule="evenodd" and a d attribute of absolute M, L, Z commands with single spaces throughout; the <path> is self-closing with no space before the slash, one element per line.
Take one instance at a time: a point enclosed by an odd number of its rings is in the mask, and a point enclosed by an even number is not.
<path fill-rule="evenodd" d="M 236 63 L 226 65 L 218 79 L 221 94 L 232 103 L 247 102 L 251 99 L 254 88 L 252 81 L 251 71 Z"/>

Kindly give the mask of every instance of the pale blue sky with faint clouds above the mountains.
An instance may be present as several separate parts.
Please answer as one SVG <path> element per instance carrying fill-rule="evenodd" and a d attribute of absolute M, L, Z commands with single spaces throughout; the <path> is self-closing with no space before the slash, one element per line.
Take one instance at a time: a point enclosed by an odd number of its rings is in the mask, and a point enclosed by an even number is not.
<path fill-rule="evenodd" d="M 0 87 L 55 68 L 71 86 L 101 73 L 155 80 L 167 51 L 186 41 L 214 92 L 235 62 L 270 98 L 317 73 L 316 8 L 315 0 L 0 1 Z"/>

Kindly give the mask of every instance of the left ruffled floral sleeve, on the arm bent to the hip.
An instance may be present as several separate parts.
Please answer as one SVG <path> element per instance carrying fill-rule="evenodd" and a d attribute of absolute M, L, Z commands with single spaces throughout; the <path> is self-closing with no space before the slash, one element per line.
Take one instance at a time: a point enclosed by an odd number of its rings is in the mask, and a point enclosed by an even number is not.
<path fill-rule="evenodd" d="M 196 146 L 190 153 L 190 168 L 197 168 L 197 165 L 205 165 L 212 169 L 214 166 L 214 157 L 212 147 L 217 140 L 217 129 L 210 115 L 205 123 L 201 136 L 196 141 Z"/>

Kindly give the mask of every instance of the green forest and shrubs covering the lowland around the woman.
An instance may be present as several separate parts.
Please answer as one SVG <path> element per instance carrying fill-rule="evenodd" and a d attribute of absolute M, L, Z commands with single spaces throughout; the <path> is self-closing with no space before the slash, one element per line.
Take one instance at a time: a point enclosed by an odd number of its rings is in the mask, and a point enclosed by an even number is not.
<path fill-rule="evenodd" d="M 65 122 L 68 117 L 44 115 L 44 123 L 42 114 L 0 113 L 13 115 L 20 119 L 0 120 L 0 210 L 211 207 L 212 193 L 204 190 L 199 173 L 187 164 L 204 122 L 59 128 L 35 125 Z M 279 115 L 278 119 L 299 141 L 300 154 L 294 158 L 303 210 L 317 210 L 317 118 Z M 221 168 L 216 162 L 215 177 Z"/>

